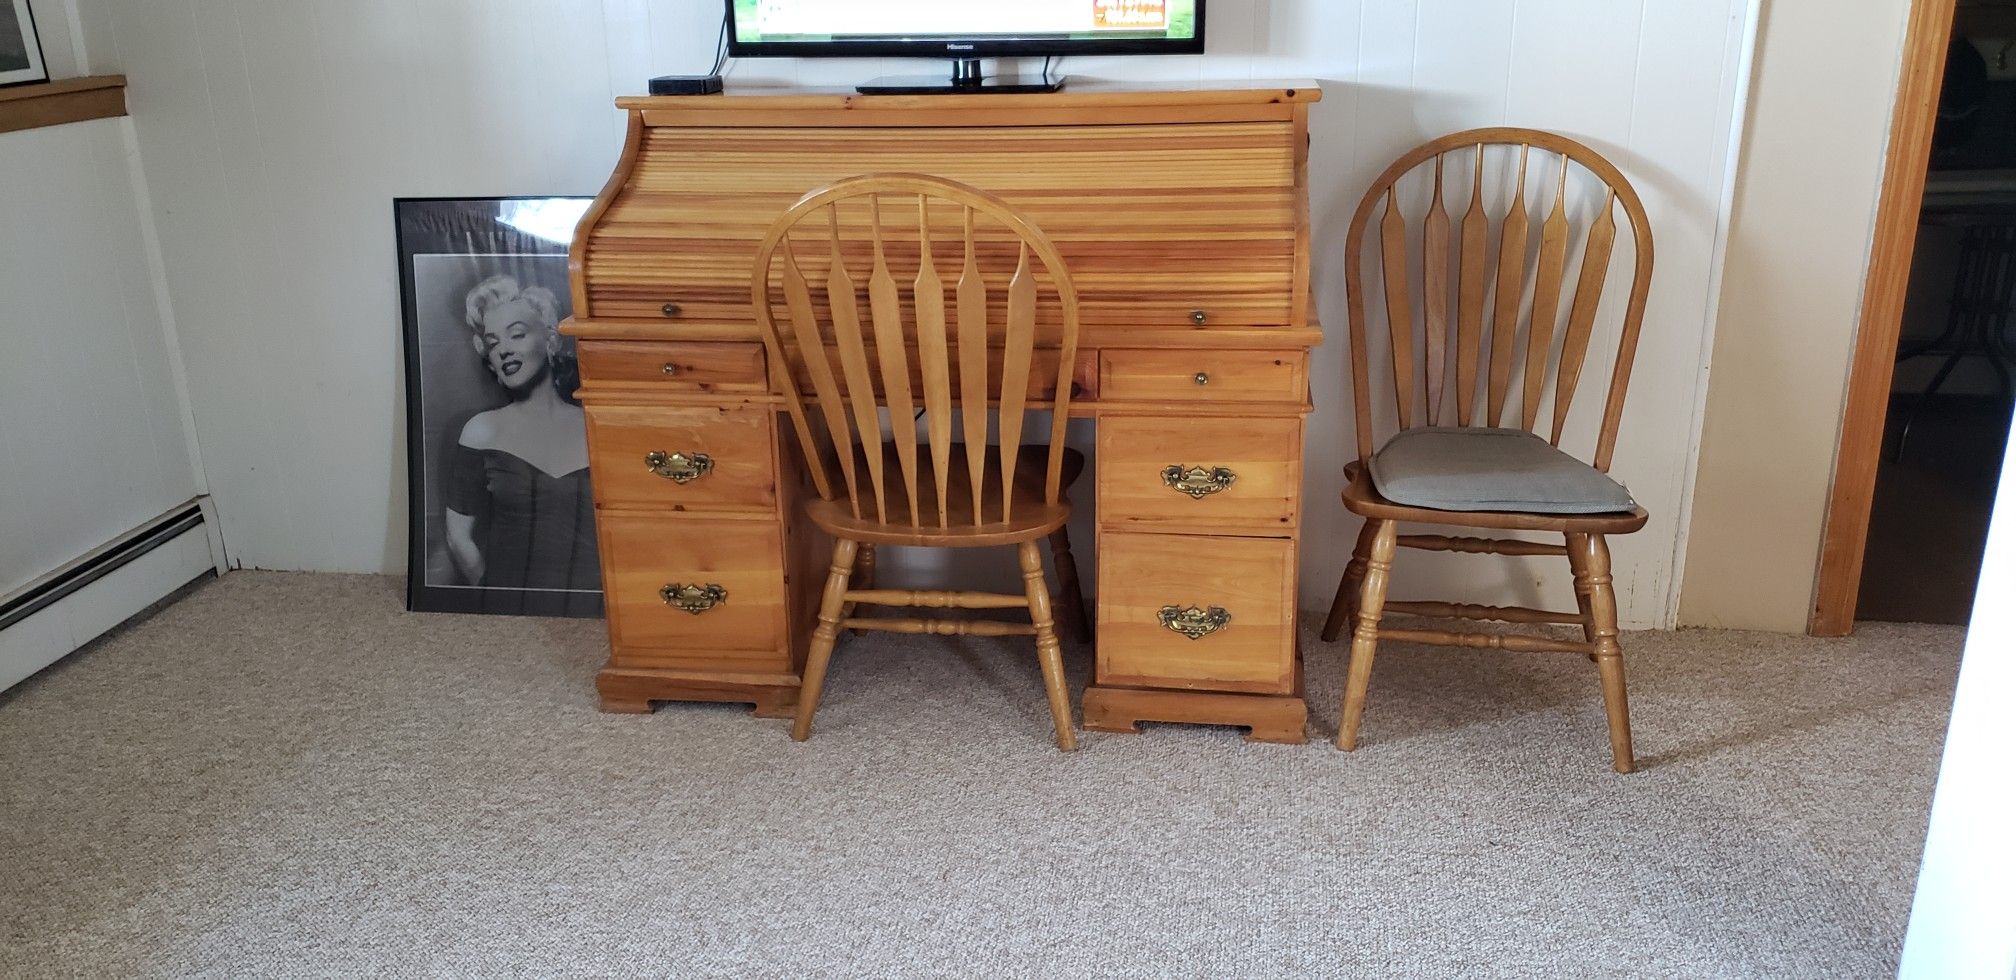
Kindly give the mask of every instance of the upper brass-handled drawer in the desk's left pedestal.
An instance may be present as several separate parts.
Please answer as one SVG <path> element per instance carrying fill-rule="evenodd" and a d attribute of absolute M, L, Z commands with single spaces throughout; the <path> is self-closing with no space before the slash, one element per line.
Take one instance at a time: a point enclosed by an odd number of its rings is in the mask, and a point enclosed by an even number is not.
<path fill-rule="evenodd" d="M 597 506 L 776 506 L 770 411 L 716 405 L 589 405 L 587 411 Z"/>

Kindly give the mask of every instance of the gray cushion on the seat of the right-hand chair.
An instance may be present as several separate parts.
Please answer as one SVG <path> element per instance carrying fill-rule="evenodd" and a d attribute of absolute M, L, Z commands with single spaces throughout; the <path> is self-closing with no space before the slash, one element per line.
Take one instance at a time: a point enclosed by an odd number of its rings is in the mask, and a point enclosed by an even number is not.
<path fill-rule="evenodd" d="M 1419 427 L 1371 458 L 1373 486 L 1433 510 L 1605 514 L 1631 510 L 1617 482 L 1524 430 Z"/>

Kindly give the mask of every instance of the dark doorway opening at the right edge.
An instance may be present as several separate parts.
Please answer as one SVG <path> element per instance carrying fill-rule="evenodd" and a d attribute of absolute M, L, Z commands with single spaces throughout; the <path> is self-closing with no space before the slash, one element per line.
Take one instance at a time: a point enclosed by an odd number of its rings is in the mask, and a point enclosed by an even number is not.
<path fill-rule="evenodd" d="M 2016 4 L 1945 48 L 1855 619 L 1966 623 L 2016 401 Z"/>

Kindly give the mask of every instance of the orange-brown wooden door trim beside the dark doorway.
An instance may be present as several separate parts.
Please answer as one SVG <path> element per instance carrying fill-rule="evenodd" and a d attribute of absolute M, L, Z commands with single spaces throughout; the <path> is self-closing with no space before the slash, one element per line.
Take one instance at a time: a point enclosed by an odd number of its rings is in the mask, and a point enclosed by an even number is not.
<path fill-rule="evenodd" d="M 1841 637 L 1855 629 L 1869 508 L 1883 456 L 1883 421 L 1889 415 L 1891 371 L 1897 365 L 1905 288 L 1911 284 L 1911 252 L 1917 246 L 1917 214 L 1925 202 L 1925 167 L 1931 157 L 1931 127 L 1939 115 L 1954 8 L 1956 0 L 1911 2 L 1841 446 L 1835 452 L 1835 484 L 1820 532 L 1820 569 L 1812 615 L 1806 619 L 1806 631 L 1818 637 Z"/>

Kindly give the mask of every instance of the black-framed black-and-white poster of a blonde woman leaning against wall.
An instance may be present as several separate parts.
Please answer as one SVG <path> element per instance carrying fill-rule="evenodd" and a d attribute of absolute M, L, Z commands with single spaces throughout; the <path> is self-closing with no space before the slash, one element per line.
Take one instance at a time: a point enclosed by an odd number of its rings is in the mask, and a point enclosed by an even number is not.
<path fill-rule="evenodd" d="M 4 2 L 4 0 L 0 0 Z M 601 615 L 566 246 L 589 198 L 401 198 L 407 609 Z"/>

